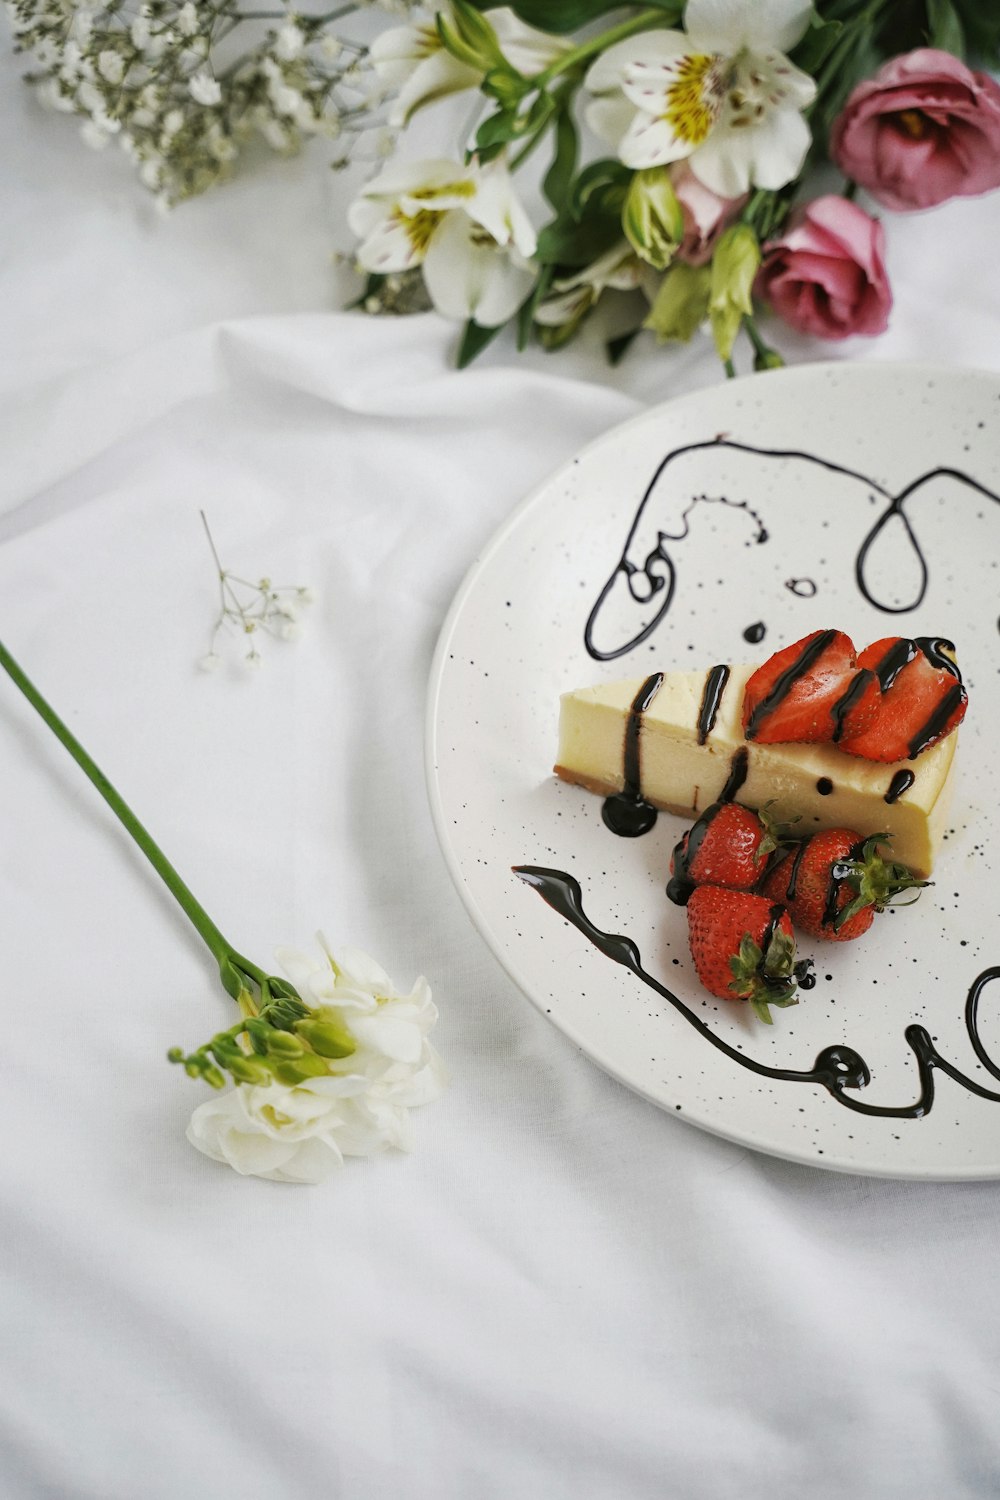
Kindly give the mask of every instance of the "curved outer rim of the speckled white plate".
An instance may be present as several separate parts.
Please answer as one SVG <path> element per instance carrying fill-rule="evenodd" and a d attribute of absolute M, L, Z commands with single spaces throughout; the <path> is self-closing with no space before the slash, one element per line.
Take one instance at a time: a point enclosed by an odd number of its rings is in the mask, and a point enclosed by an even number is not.
<path fill-rule="evenodd" d="M 445 818 L 445 810 L 441 798 L 441 789 L 436 777 L 436 747 L 438 747 L 438 728 L 439 728 L 439 700 L 444 686 L 444 675 L 447 672 L 448 663 L 448 648 L 453 642 L 454 632 L 457 628 L 459 620 L 465 610 L 466 602 L 475 588 L 480 574 L 489 567 L 490 561 L 502 549 L 510 534 L 522 524 L 528 512 L 538 506 L 549 489 L 562 477 L 570 468 L 577 464 L 583 464 L 594 452 L 606 446 L 607 442 L 618 441 L 622 434 L 627 434 L 633 426 L 648 422 L 664 411 L 676 411 L 688 404 L 694 404 L 699 399 L 706 398 L 712 392 L 730 392 L 750 381 L 760 381 L 762 378 L 769 380 L 769 387 L 774 388 L 778 384 L 786 384 L 792 381 L 801 381 L 804 378 L 822 380 L 829 376 L 832 372 L 843 374 L 850 370 L 855 376 L 868 378 L 868 372 L 877 372 L 880 376 L 891 376 L 892 374 L 906 374 L 907 376 L 933 376 L 946 378 L 954 381 L 964 380 L 991 380 L 1000 387 L 1000 370 L 987 369 L 984 366 L 967 366 L 967 364 L 937 364 L 931 360 L 816 360 L 807 364 L 792 364 L 784 366 L 778 370 L 763 370 L 753 372 L 748 375 L 739 375 L 735 380 L 717 381 L 712 386 L 702 386 L 693 392 L 684 392 L 678 396 L 670 396 L 666 400 L 655 402 L 649 406 L 643 406 L 642 411 L 634 412 L 631 417 L 625 417 L 622 422 L 613 423 L 600 432 L 595 438 L 591 438 L 582 448 L 574 452 L 568 459 L 564 459 L 559 465 L 552 468 L 522 500 L 514 506 L 514 508 L 504 518 L 504 520 L 496 526 L 496 530 L 489 536 L 486 543 L 472 556 L 457 590 L 451 597 L 451 603 L 444 615 L 435 651 L 430 662 L 430 669 L 427 674 L 427 692 L 426 692 L 426 706 L 424 706 L 424 782 L 427 789 L 427 801 L 430 806 L 430 818 L 433 822 L 435 834 L 441 854 L 448 870 L 448 876 L 462 900 L 466 915 L 472 921 L 480 939 L 490 950 L 493 957 L 498 960 L 501 969 L 508 975 L 510 980 L 517 986 L 525 999 L 544 1017 L 544 1020 L 552 1024 L 558 1032 L 561 1032 L 583 1056 L 588 1064 L 598 1068 L 607 1077 L 615 1078 L 622 1088 L 628 1089 L 630 1094 L 637 1095 L 648 1104 L 654 1106 L 661 1114 L 669 1119 L 675 1119 L 679 1124 L 688 1125 L 691 1130 L 703 1131 L 709 1136 L 715 1136 L 720 1140 L 727 1140 L 732 1144 L 742 1146 L 748 1150 L 760 1152 L 772 1160 L 786 1161 L 796 1167 L 805 1167 L 819 1172 L 834 1172 L 844 1173 L 849 1176 L 862 1178 L 880 1178 L 895 1182 L 990 1182 L 1000 1179 L 1000 1161 L 994 1166 L 970 1166 L 961 1167 L 955 1166 L 945 1170 L 925 1168 L 919 1166 L 913 1167 L 891 1167 L 886 1166 L 880 1168 L 871 1164 L 858 1164 L 850 1160 L 841 1160 L 837 1156 L 819 1158 L 816 1155 L 808 1155 L 805 1150 L 799 1150 L 789 1144 L 780 1144 L 775 1142 L 753 1138 L 748 1140 L 745 1134 L 739 1134 L 735 1130 L 727 1130 L 724 1126 L 711 1124 L 708 1120 L 694 1119 L 691 1116 L 684 1116 L 681 1110 L 675 1110 L 672 1106 L 666 1104 L 663 1100 L 655 1098 L 648 1089 L 636 1083 L 633 1078 L 622 1076 L 609 1062 L 594 1056 L 589 1047 L 576 1035 L 571 1022 L 565 1020 L 562 1016 L 555 1017 L 547 1014 L 546 1008 L 540 999 L 532 994 L 531 981 L 522 975 L 516 960 L 511 957 L 510 951 L 504 948 L 495 936 L 492 924 L 486 920 L 478 900 L 472 894 L 471 888 L 465 880 L 465 874 L 459 864 L 457 854 L 454 852 Z"/>

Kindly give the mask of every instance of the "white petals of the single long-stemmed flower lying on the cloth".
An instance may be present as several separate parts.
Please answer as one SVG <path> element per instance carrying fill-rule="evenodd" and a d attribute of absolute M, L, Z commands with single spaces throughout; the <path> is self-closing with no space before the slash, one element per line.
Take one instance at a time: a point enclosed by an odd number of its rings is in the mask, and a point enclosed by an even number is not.
<path fill-rule="evenodd" d="M 409 1110 L 436 1100 L 447 1083 L 427 1041 L 438 1018 L 427 981 L 400 994 L 357 948 L 336 957 L 327 950 L 322 958 L 282 950 L 279 957 L 318 1023 L 346 1028 L 355 1050 L 325 1058 L 325 1076 L 240 1083 L 207 1100 L 190 1118 L 187 1140 L 241 1176 L 276 1182 L 322 1182 L 345 1156 L 409 1149 Z"/>

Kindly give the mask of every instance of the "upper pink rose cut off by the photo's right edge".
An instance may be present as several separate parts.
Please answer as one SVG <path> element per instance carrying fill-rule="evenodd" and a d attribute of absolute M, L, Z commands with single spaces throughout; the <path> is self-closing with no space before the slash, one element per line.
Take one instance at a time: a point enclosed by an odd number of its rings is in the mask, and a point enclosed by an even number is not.
<path fill-rule="evenodd" d="M 1000 87 L 930 46 L 894 57 L 852 93 L 831 156 L 886 208 L 1000 188 Z"/>

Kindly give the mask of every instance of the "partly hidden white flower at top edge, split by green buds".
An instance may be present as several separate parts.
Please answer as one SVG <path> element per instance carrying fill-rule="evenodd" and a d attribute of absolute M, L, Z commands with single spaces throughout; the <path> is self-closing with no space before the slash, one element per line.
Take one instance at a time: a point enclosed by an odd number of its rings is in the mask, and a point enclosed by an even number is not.
<path fill-rule="evenodd" d="M 460 63 L 445 48 L 436 26 L 438 15 L 454 24 L 451 6 L 441 4 L 436 12 L 424 12 L 409 26 L 382 32 L 372 42 L 369 57 L 375 72 L 382 82 L 399 90 L 388 117 L 396 129 L 406 124 L 423 105 L 466 88 L 478 88 L 483 81 L 480 69 Z M 544 72 L 570 46 L 558 36 L 525 26 L 507 6 L 490 10 L 487 20 L 496 32 L 504 57 L 525 78 Z"/>

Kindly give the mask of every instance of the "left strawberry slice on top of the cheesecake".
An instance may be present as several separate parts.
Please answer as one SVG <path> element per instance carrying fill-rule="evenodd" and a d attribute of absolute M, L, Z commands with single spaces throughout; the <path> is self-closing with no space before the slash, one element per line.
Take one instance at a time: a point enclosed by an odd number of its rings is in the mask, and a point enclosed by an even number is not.
<path fill-rule="evenodd" d="M 816 744 L 864 732 L 877 702 L 871 678 L 843 630 L 814 630 L 777 651 L 748 680 L 744 734 L 759 744 Z"/>

